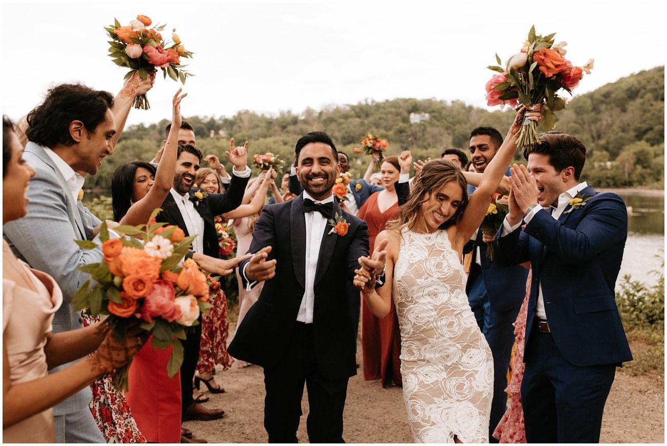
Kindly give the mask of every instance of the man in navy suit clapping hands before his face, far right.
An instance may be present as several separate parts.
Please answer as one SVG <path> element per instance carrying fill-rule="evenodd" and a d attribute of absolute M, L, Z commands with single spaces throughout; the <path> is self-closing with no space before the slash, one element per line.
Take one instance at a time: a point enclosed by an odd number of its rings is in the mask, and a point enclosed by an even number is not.
<path fill-rule="evenodd" d="M 560 132 L 540 141 L 524 151 L 528 168 L 511 169 L 510 211 L 494 241 L 494 262 L 530 261 L 533 269 L 521 388 L 526 439 L 596 443 L 616 366 L 632 360 L 614 301 L 628 213 L 618 195 L 579 182 L 581 141 Z"/>

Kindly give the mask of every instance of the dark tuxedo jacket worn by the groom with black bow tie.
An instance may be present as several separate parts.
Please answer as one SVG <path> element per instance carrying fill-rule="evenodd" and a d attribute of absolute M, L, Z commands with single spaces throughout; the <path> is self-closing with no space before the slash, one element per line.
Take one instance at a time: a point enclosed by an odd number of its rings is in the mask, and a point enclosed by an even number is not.
<path fill-rule="evenodd" d="M 333 205 L 334 213 L 350 223 L 348 233 L 329 235 L 327 224 L 319 247 L 313 291 L 313 341 L 317 367 L 325 379 L 356 374 L 356 339 L 346 293 L 358 259 L 368 255 L 366 223 Z M 229 354 L 243 361 L 271 367 L 289 347 L 305 292 L 305 217 L 303 195 L 275 205 L 265 205 L 253 231 L 248 253 L 271 246 L 268 259 L 276 259 L 275 276 L 264 282 L 259 299 L 250 307 L 229 345 Z M 239 271 L 248 261 L 239 265 Z M 241 274 L 243 286 L 245 278 Z"/>

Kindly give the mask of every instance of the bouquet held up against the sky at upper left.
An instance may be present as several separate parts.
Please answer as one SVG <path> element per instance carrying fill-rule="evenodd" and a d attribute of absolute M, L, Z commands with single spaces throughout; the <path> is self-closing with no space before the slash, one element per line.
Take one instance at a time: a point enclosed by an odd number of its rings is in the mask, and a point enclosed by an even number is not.
<path fill-rule="evenodd" d="M 189 58 L 193 53 L 185 51 L 175 28 L 171 34 L 171 42 L 168 43 L 159 33 L 166 25 L 147 28 L 152 21 L 145 15 L 137 15 L 137 19 L 126 26 L 121 26 L 117 19 L 113 21 L 113 25 L 104 28 L 111 37 L 109 57 L 119 67 L 130 69 L 125 79 L 135 71 L 139 71 L 141 79 L 146 79 L 149 73 L 157 71 L 157 68 L 162 69 L 165 79 L 169 75 L 174 81 L 180 79 L 181 83 L 185 83 L 188 76 L 193 76 L 183 70 L 186 65 L 181 65 L 181 57 Z M 150 108 L 145 94 L 135 99 L 134 107 L 145 110 Z"/>

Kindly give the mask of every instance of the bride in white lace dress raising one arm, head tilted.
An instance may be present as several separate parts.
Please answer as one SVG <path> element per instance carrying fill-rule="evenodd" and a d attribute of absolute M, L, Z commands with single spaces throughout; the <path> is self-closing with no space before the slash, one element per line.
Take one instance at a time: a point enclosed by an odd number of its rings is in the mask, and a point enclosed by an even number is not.
<path fill-rule="evenodd" d="M 360 259 L 365 267 L 354 281 L 371 311 L 384 317 L 394 295 L 403 394 L 416 443 L 488 443 L 494 365 L 468 304 L 462 251 L 512 161 L 523 115 L 517 114 L 470 200 L 454 164 L 436 159 L 424 165 L 400 217 L 376 239 L 373 265 L 386 262 L 386 285 L 372 288 L 371 260 Z M 525 116 L 538 121 L 541 113 Z"/>

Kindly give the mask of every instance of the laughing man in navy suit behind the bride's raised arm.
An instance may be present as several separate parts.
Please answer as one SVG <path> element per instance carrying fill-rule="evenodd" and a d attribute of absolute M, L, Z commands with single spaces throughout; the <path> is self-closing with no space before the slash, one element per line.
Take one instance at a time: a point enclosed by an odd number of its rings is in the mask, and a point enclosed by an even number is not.
<path fill-rule="evenodd" d="M 470 133 L 470 158 L 479 173 L 484 173 L 502 141 L 500 132 L 492 127 L 477 127 Z M 506 175 L 509 175 L 509 169 Z M 475 188 L 468 185 L 468 195 L 474 191 Z M 480 227 L 474 240 L 464 249 L 473 249 L 466 293 L 494 357 L 494 398 L 491 403 L 489 439 L 496 443 L 492 435 L 507 408 L 507 370 L 514 345 L 512 324 L 526 297 L 528 270 L 520 265 L 504 267 L 493 263 L 486 255 L 487 246 L 482 238 Z"/>

